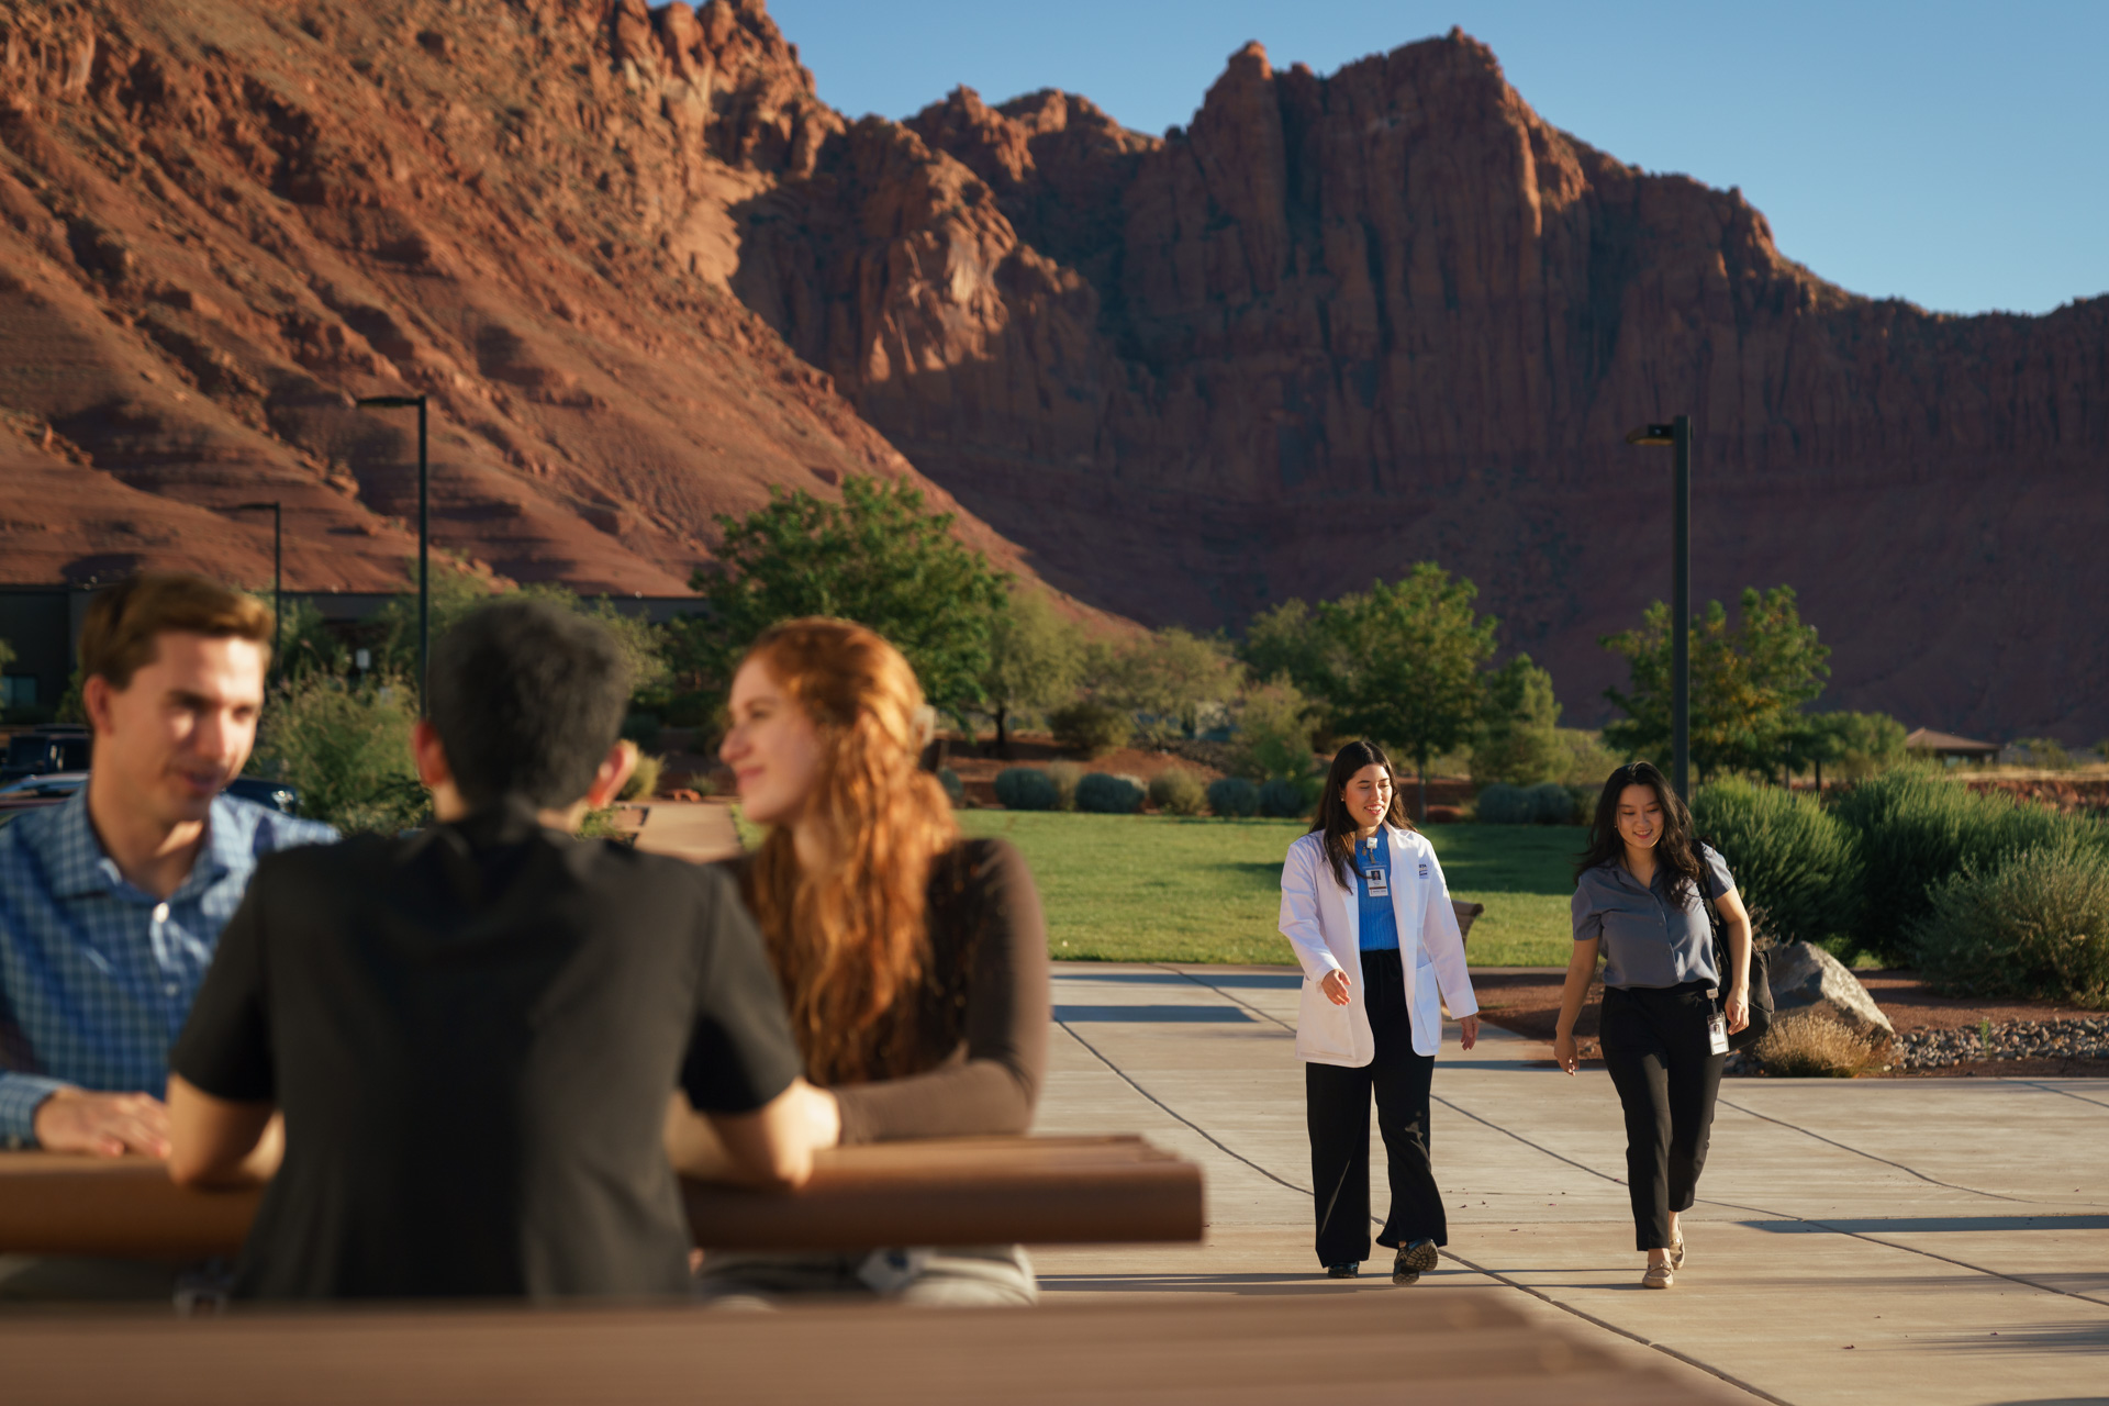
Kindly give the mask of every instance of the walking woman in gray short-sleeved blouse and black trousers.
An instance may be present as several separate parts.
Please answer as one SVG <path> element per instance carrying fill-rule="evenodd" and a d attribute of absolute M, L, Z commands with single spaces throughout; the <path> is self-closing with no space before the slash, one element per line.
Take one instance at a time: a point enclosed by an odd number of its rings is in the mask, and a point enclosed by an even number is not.
<path fill-rule="evenodd" d="M 1708 902 L 1727 927 L 1725 982 Z M 1727 1037 L 1750 1022 L 1750 915 L 1727 864 L 1691 839 L 1691 812 L 1647 761 L 1613 772 L 1597 797 L 1573 925 L 1552 1058 L 1573 1075 L 1575 1018 L 1603 951 L 1601 1041 L 1626 1109 L 1632 1248 L 1647 1252 L 1641 1284 L 1670 1288 L 1685 1265 L 1677 1214 L 1691 1208 L 1706 1166 Z"/>

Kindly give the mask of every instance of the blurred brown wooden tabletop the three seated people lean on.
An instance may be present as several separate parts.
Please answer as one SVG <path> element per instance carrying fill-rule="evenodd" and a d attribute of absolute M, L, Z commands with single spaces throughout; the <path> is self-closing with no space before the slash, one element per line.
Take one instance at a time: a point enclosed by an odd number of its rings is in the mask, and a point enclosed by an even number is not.
<path fill-rule="evenodd" d="M 820 1153 L 795 1193 L 683 1183 L 709 1250 L 1202 1237 L 1202 1174 L 1141 1138 L 930 1138 Z M 0 1153 L 0 1254 L 205 1258 L 255 1191 L 186 1191 L 148 1157 Z"/>

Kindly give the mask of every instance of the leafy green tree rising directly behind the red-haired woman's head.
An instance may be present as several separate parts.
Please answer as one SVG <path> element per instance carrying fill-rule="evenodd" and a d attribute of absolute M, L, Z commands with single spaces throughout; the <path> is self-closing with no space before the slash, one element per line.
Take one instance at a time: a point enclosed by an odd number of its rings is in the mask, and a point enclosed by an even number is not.
<path fill-rule="evenodd" d="M 799 616 L 854 620 L 907 656 L 924 696 L 964 723 L 987 702 L 989 634 L 1004 578 L 930 512 L 911 483 L 848 476 L 841 502 L 772 489 L 744 519 L 719 514 L 719 569 L 690 580 L 707 613 L 683 624 L 681 660 L 723 691 L 761 630 Z"/>

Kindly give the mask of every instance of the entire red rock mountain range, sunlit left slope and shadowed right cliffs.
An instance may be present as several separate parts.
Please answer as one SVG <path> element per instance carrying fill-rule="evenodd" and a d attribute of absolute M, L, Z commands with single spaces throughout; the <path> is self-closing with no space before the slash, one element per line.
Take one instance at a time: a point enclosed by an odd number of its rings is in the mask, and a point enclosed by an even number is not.
<path fill-rule="evenodd" d="M 1622 434 L 1687 411 L 1696 590 L 1797 586 L 1829 704 L 2109 734 L 2109 299 L 1854 297 L 1462 34 L 1249 46 L 1158 139 L 846 122 L 759 0 L 162 8 L 0 0 L 8 575 L 253 561 L 205 508 L 266 481 L 316 571 L 392 573 L 401 430 L 335 396 L 415 386 L 441 542 L 512 575 L 673 588 L 711 510 L 920 472 L 1147 622 L 1436 559 L 1590 721 L 1666 578 Z"/>

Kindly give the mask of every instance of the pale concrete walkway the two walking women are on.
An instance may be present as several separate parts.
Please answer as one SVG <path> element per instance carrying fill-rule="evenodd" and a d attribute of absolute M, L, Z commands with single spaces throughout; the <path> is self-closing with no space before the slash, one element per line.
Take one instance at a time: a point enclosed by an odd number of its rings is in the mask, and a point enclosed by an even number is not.
<path fill-rule="evenodd" d="M 1481 1292 L 1757 1400 L 2109 1402 L 2109 1083 L 1729 1079 L 1664 1294 L 1639 1288 L 1609 1077 L 1535 1067 L 1546 1046 L 1495 1029 L 1462 1054 L 1449 1027 L 1434 1081 L 1449 1248 L 1396 1290 L 1384 1250 L 1354 1282 L 1312 1256 L 1297 982 L 1057 965 L 1038 1130 L 1143 1132 L 1200 1161 L 1211 1231 L 1042 1250 L 1048 1303 Z"/>

